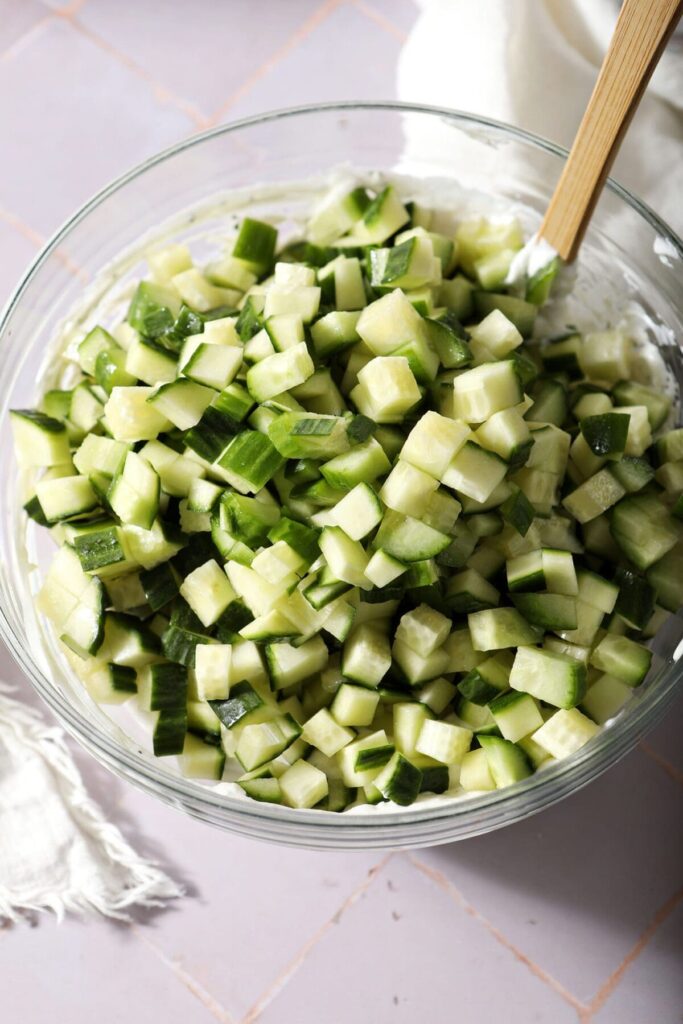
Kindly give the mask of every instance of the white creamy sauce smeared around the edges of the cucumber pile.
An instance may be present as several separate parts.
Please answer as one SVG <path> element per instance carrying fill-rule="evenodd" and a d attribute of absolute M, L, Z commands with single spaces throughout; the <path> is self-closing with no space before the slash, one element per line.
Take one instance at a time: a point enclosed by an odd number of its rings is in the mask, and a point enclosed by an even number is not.
<path fill-rule="evenodd" d="M 331 187 L 344 184 L 350 189 L 359 183 L 378 186 L 387 180 L 396 186 L 405 201 L 414 200 L 436 209 L 434 230 L 453 233 L 459 220 L 475 216 L 486 216 L 498 221 L 518 217 L 527 234 L 538 227 L 538 213 L 528 207 L 511 203 L 504 198 L 465 189 L 451 179 L 426 180 L 403 175 L 359 173 L 346 166 L 306 181 L 276 186 L 254 185 L 216 196 L 200 207 L 181 212 L 177 217 L 140 238 L 134 246 L 121 253 L 116 260 L 104 267 L 85 288 L 82 298 L 70 315 L 56 327 L 50 344 L 50 358 L 45 360 L 45 371 L 37 382 L 37 396 L 48 387 L 71 384 L 76 370 L 76 349 L 88 330 L 96 324 L 112 328 L 124 318 L 136 283 L 145 273 L 144 253 L 150 249 L 169 244 L 171 241 L 182 241 L 189 246 L 193 255 L 201 264 L 212 257 L 215 258 L 216 253 L 220 254 L 227 240 L 234 233 L 240 220 L 247 213 L 276 224 L 280 228 L 280 243 L 288 243 L 303 236 L 307 214 Z M 660 248 L 661 252 L 657 250 L 657 255 L 664 262 L 676 257 L 676 253 L 672 254 L 666 247 Z M 508 281 L 511 284 L 523 283 L 525 278 L 545 266 L 554 255 L 555 251 L 548 243 L 532 236 L 515 257 Z M 585 258 L 588 260 L 589 257 Z M 668 327 L 657 323 L 642 306 L 629 298 L 630 292 L 637 291 L 638 281 L 633 271 L 627 266 L 611 267 L 611 269 L 614 272 L 607 273 L 604 280 L 600 278 L 596 287 L 594 275 L 589 280 L 582 279 L 577 267 L 563 267 L 555 282 L 552 301 L 538 316 L 537 334 L 541 337 L 552 336 L 565 331 L 568 325 L 582 333 L 598 332 L 607 328 L 623 329 L 632 337 L 637 350 L 634 376 L 667 391 L 678 402 L 676 381 L 660 354 L 660 348 L 676 344 L 676 339 Z M 672 414 L 670 424 L 675 414 Z M 28 573 L 33 570 L 38 559 L 35 544 L 27 534 L 26 523 L 22 526 L 22 556 Z M 57 660 L 63 668 L 66 663 L 63 656 L 57 653 L 58 645 L 53 635 L 50 634 L 48 639 L 44 624 L 38 625 L 34 615 L 27 615 L 27 624 L 29 622 L 35 626 L 36 644 L 42 650 L 46 669 Z M 73 675 L 68 668 L 66 671 L 70 676 Z M 139 744 L 148 750 L 148 715 L 133 707 L 127 709 L 125 706 L 108 707 L 105 711 L 99 713 L 111 718 L 120 727 L 121 742 L 128 749 L 136 749 Z M 229 774 L 227 766 L 226 771 Z M 236 769 L 233 774 L 237 773 Z M 229 798 L 249 799 L 233 781 L 203 784 Z M 471 796 L 476 795 L 466 794 L 464 791 L 440 796 L 424 794 L 412 807 L 437 807 L 449 804 L 454 799 L 467 799 Z M 393 804 L 359 805 L 349 808 L 344 813 L 355 815 L 372 813 L 375 816 L 384 816 L 401 813 L 403 810 L 404 808 Z M 321 812 L 311 811 L 311 813 Z"/>

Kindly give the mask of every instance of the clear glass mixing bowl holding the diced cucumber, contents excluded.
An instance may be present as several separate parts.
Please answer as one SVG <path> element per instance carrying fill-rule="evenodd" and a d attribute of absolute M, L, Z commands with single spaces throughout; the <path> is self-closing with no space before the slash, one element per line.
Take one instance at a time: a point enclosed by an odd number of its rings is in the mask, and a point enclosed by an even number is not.
<path fill-rule="evenodd" d="M 345 165 L 382 174 L 454 180 L 538 225 L 566 152 L 516 128 L 453 111 L 398 103 L 329 103 L 251 118 L 198 135 L 135 168 L 95 196 L 45 246 L 0 322 L 0 634 L 63 727 L 117 775 L 229 831 L 307 848 L 400 848 L 466 839 L 526 817 L 568 796 L 622 758 L 671 705 L 681 681 L 683 636 L 673 615 L 654 643 L 650 678 L 622 715 L 577 755 L 509 788 L 408 809 L 296 811 L 238 799 L 182 778 L 94 705 L 60 654 L 33 594 L 51 550 L 22 511 L 7 410 L 34 404 L 54 367 L 56 335 L 78 337 L 102 312 L 113 285 L 125 295 L 140 265 L 141 237 L 203 246 L 224 234 L 229 195 L 243 212 L 284 226 L 310 201 L 306 182 Z M 257 187 L 258 186 L 258 187 Z M 261 186 L 269 186 L 270 190 Z M 228 199 L 213 202 L 221 195 Z M 439 193 L 440 194 L 440 193 Z M 189 215 L 178 218 L 180 211 Z M 574 294 L 596 325 L 636 300 L 650 319 L 677 383 L 683 327 L 683 246 L 616 182 L 607 183 L 577 268 Z M 114 270 L 112 269 L 114 267 Z M 85 293 L 85 298 L 84 298 Z"/>

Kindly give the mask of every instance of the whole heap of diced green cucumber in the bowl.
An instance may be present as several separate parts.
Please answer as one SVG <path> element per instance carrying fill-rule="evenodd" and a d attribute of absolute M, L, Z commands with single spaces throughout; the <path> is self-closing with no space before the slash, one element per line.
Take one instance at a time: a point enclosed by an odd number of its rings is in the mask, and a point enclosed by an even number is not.
<path fill-rule="evenodd" d="M 62 545 L 38 609 L 188 778 L 330 812 L 513 784 L 683 604 L 669 389 L 623 330 L 539 343 L 558 261 L 508 294 L 519 224 L 455 223 L 342 186 L 279 257 L 249 217 L 204 268 L 171 243 L 11 413 Z"/>

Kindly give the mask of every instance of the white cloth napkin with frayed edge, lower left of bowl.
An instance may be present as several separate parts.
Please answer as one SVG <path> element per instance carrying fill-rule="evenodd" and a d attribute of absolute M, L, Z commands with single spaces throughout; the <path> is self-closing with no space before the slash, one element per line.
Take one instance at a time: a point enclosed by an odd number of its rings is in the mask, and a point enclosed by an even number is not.
<path fill-rule="evenodd" d="M 98 911 L 127 920 L 182 890 L 90 799 L 61 729 L 0 683 L 0 918 Z"/>

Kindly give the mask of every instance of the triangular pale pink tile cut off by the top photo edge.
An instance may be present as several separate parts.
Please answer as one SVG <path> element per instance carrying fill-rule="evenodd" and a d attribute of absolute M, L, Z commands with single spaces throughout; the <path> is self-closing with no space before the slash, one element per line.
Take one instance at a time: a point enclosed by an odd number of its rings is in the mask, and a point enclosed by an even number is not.
<path fill-rule="evenodd" d="M 209 116 L 323 0 L 88 0 L 79 20 Z"/>

